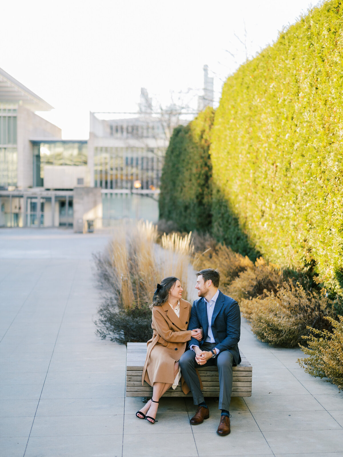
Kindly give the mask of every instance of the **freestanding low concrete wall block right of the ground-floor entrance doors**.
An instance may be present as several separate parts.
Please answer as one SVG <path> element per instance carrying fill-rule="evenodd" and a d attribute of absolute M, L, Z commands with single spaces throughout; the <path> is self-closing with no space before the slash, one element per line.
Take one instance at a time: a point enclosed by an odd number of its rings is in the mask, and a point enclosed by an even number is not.
<path fill-rule="evenodd" d="M 74 232 L 86 231 L 86 221 L 93 220 L 95 228 L 102 227 L 101 189 L 76 187 L 73 196 Z"/>

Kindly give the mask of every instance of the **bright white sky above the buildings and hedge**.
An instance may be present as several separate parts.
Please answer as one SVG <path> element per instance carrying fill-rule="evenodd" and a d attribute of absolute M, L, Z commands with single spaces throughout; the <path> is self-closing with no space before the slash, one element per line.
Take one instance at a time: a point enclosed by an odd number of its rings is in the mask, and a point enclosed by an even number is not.
<path fill-rule="evenodd" d="M 170 91 L 191 88 L 186 98 L 196 107 L 204 64 L 218 103 L 246 48 L 248 57 L 256 55 L 312 5 L 11 0 L 1 4 L 0 67 L 54 106 L 39 114 L 62 128 L 63 138 L 88 138 L 89 111 L 135 112 L 141 87 L 163 105 Z"/>

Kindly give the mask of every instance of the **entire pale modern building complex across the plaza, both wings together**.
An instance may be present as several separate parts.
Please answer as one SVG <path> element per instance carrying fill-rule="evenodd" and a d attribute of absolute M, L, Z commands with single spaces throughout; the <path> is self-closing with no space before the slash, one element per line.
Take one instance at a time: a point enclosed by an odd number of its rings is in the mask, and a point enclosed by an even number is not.
<path fill-rule="evenodd" d="M 88 141 L 63 140 L 60 128 L 36 114 L 51 109 L 0 69 L 0 227 L 82 232 L 87 221 L 157 222 L 169 138 L 188 122 L 177 107 L 154 113 L 141 88 L 138 113 L 91 112 Z"/>

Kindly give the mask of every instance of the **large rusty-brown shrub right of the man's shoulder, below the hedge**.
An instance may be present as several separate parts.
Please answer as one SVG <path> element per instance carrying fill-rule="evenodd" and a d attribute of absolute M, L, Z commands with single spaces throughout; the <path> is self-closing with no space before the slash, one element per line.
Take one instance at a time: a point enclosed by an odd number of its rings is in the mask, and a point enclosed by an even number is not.
<path fill-rule="evenodd" d="M 252 331 L 269 345 L 294 347 L 308 326 L 328 329 L 325 317 L 334 317 L 331 301 L 316 291 L 306 291 L 299 283 L 284 282 L 277 292 L 264 292 L 263 297 L 241 300 L 241 311 Z"/>

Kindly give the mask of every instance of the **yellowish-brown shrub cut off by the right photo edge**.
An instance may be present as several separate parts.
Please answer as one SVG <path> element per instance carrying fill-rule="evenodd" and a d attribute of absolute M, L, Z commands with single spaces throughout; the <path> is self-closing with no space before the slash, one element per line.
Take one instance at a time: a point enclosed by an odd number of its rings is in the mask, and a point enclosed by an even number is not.
<path fill-rule="evenodd" d="M 326 376 L 343 390 L 343 316 L 338 316 L 338 321 L 326 319 L 332 326 L 332 333 L 309 327 L 311 335 L 303 336 L 308 347 L 300 345 L 309 357 L 298 359 L 298 363 L 305 372 L 320 378 Z"/>

